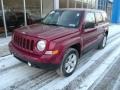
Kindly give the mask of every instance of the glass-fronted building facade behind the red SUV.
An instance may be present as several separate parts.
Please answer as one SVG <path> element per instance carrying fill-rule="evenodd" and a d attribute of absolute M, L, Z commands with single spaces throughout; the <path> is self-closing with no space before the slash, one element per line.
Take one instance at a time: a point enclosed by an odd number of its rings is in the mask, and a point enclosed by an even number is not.
<path fill-rule="evenodd" d="M 11 35 L 13 30 L 9 29 L 17 26 L 15 22 L 21 26 L 32 24 L 31 20 L 39 20 L 58 8 L 103 9 L 106 2 L 102 1 L 104 0 L 0 0 L 0 37 Z"/>

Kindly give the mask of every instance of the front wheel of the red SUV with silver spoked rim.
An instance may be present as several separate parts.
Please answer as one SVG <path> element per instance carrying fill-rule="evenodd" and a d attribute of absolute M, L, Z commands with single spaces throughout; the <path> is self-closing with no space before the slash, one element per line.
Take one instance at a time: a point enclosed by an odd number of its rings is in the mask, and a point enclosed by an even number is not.
<path fill-rule="evenodd" d="M 58 75 L 65 77 L 70 76 L 76 69 L 78 58 L 78 51 L 74 48 L 69 48 L 65 52 L 60 67 L 57 69 Z"/>

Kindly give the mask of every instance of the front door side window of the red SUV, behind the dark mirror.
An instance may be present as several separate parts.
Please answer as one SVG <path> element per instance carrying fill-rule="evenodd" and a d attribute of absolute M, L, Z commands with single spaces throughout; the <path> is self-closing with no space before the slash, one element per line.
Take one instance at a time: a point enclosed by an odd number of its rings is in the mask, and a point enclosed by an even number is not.
<path fill-rule="evenodd" d="M 92 12 L 87 12 L 85 15 L 85 24 L 84 28 L 89 29 L 89 28 L 94 28 L 95 26 L 95 14 Z"/>

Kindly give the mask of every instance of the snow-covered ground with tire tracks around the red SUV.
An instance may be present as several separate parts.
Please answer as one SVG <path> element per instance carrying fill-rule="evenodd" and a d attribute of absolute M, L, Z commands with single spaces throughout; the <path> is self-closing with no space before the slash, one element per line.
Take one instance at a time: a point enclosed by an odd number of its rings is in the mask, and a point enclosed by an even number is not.
<path fill-rule="evenodd" d="M 1 39 L 0 46 L 7 45 L 10 38 L 6 41 Z M 83 55 L 67 78 L 29 67 L 7 50 L 0 57 L 0 90 L 120 90 L 120 25 L 111 25 L 107 46 Z"/>

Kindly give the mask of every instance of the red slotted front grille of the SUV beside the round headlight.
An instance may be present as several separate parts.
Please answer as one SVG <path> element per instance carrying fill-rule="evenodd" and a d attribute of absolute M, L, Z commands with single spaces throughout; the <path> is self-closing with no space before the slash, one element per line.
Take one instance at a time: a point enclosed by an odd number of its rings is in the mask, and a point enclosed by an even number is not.
<path fill-rule="evenodd" d="M 14 34 L 14 44 L 23 49 L 33 51 L 34 43 L 34 40 L 30 39 L 28 36 Z"/>

